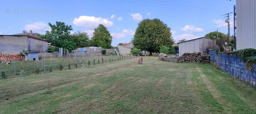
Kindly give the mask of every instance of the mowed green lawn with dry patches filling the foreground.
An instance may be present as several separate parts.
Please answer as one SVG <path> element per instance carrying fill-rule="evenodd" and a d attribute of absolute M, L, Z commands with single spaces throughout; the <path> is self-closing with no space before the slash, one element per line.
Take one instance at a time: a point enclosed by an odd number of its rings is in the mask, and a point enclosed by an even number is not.
<path fill-rule="evenodd" d="M 211 64 L 145 57 L 1 79 L 0 113 L 255 114 L 256 89 Z"/>

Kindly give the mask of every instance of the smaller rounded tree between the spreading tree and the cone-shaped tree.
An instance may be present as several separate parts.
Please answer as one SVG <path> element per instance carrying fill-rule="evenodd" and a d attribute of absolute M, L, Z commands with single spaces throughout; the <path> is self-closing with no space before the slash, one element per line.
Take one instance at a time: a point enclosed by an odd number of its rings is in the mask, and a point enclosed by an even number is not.
<path fill-rule="evenodd" d="M 88 46 L 89 35 L 87 32 L 78 31 L 77 33 L 74 33 L 72 36 L 73 36 L 74 43 L 76 44 L 76 47 Z"/>

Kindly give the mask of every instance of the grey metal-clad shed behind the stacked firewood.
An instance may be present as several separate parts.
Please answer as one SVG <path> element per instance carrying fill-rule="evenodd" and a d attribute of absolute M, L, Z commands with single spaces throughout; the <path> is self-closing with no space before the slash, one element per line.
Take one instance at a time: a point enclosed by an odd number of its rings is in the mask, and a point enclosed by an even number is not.
<path fill-rule="evenodd" d="M 179 56 L 187 52 L 208 53 L 208 49 L 215 49 L 216 41 L 205 37 L 179 42 Z"/>

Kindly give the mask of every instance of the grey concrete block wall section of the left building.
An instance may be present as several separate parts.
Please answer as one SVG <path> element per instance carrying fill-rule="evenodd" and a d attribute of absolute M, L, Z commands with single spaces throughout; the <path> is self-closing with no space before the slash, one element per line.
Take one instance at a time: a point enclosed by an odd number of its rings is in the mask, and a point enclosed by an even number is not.
<path fill-rule="evenodd" d="M 26 36 L 0 36 L 0 53 L 19 54 L 22 49 L 28 50 Z"/>

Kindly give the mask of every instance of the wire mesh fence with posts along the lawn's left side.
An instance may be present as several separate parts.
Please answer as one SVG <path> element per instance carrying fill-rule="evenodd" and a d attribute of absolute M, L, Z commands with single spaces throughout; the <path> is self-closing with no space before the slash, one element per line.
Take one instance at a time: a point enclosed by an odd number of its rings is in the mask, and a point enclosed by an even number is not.
<path fill-rule="evenodd" d="M 36 57 L 29 57 L 36 58 Z M 38 58 L 38 57 L 37 57 Z M 86 67 L 90 65 L 102 64 L 105 62 L 131 59 L 130 56 L 95 56 L 92 54 L 62 57 L 39 57 L 38 61 L 12 61 L 9 64 L 0 63 L 0 72 L 5 76 L 26 76 L 31 74 L 60 71 L 71 68 Z M 32 59 L 33 60 L 33 59 Z M 1 74 L 0 74 L 1 75 Z M 2 75 L 1 75 L 2 77 Z"/>

